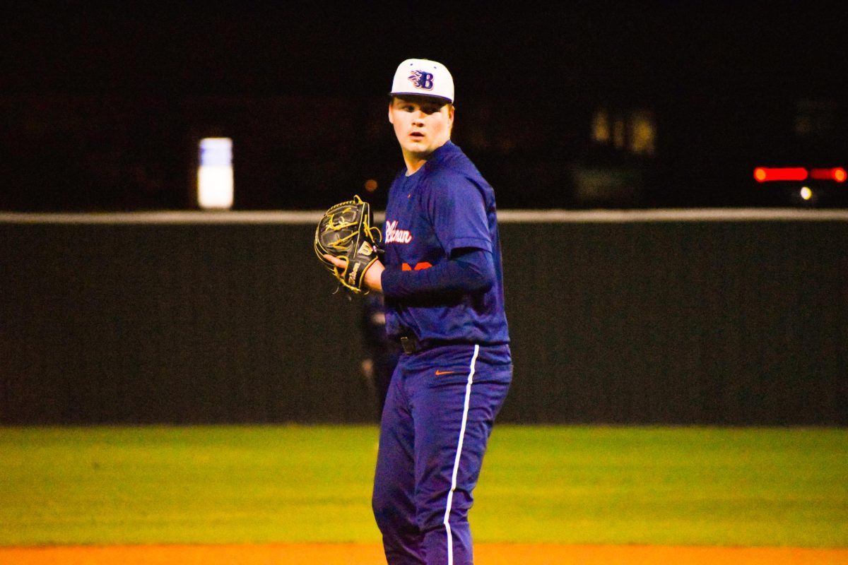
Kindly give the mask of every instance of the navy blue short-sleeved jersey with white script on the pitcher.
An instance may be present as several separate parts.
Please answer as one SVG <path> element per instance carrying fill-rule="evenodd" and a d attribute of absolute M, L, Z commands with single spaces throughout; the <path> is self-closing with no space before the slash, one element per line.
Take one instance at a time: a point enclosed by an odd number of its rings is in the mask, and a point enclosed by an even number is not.
<path fill-rule="evenodd" d="M 429 269 L 460 248 L 494 260 L 494 285 L 471 294 L 386 296 L 386 330 L 397 339 L 506 344 L 503 270 L 494 191 L 459 147 L 448 141 L 415 174 L 401 171 L 389 189 L 383 230 L 386 269 Z"/>

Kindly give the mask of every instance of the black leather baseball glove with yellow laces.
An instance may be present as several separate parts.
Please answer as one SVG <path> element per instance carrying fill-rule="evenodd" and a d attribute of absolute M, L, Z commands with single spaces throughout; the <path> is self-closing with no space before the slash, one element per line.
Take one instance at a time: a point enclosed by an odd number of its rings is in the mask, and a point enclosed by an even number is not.
<path fill-rule="evenodd" d="M 377 261 L 377 242 L 380 229 L 371 226 L 371 205 L 358 196 L 339 202 L 324 213 L 315 228 L 315 255 L 336 280 L 355 294 L 365 293 L 362 288 L 365 270 Z M 324 255 L 340 258 L 347 263 L 338 268 Z"/>

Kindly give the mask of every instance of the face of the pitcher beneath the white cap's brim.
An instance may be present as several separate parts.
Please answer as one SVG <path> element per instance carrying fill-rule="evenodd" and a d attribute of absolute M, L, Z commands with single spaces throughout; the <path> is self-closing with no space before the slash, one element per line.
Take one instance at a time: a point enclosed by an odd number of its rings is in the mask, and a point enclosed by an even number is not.
<path fill-rule="evenodd" d="M 404 157 L 424 159 L 450 139 L 454 107 L 432 97 L 394 97 L 388 106 Z"/>

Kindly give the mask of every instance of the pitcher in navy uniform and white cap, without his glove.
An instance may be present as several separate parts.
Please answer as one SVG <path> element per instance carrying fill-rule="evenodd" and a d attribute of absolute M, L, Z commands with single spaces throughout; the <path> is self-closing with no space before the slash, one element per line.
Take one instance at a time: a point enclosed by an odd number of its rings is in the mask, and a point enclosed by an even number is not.
<path fill-rule="evenodd" d="M 471 495 L 512 378 L 494 191 L 450 141 L 443 64 L 404 61 L 389 94 L 405 168 L 389 189 L 384 259 L 364 277 L 384 294 L 388 336 L 404 352 L 372 506 L 389 565 L 466 565 Z"/>

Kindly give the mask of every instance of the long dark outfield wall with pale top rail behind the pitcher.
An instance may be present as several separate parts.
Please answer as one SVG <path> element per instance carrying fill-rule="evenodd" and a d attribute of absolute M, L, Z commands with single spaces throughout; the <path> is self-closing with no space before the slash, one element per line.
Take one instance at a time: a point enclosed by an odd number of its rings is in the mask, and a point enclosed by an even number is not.
<path fill-rule="evenodd" d="M 0 424 L 359 423 L 320 213 L 0 214 Z M 848 213 L 501 213 L 500 421 L 848 424 Z"/>

